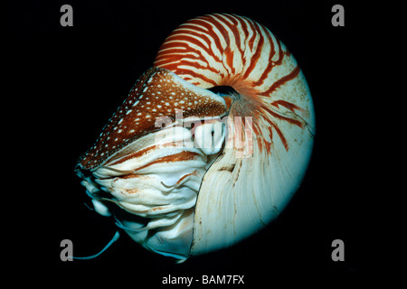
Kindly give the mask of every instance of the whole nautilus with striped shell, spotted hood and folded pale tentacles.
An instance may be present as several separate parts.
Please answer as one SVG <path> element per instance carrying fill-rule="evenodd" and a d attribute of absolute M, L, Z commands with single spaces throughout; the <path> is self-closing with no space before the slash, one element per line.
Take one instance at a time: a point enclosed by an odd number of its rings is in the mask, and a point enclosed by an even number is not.
<path fill-rule="evenodd" d="M 247 17 L 208 14 L 169 34 L 76 172 L 94 210 L 185 260 L 276 219 L 314 135 L 308 83 L 286 46 Z"/>

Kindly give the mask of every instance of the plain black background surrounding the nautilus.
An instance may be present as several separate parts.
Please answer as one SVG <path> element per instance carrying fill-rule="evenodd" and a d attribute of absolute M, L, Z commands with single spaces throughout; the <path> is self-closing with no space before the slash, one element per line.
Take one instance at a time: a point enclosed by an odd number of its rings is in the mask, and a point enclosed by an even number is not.
<path fill-rule="evenodd" d="M 63 4 L 73 7 L 73 27 L 60 24 Z M 331 24 L 335 4 L 345 7 L 345 27 Z M 284 274 L 338 280 L 392 268 L 382 257 L 392 255 L 385 241 L 397 247 L 386 219 L 397 191 L 389 187 L 392 173 L 383 151 L 397 149 L 389 130 L 394 117 L 387 113 L 396 115 L 401 106 L 400 93 L 392 89 L 400 75 L 394 70 L 401 58 L 400 9 L 390 2 L 351 1 L 8 3 L 7 111 L 13 117 L 5 124 L 15 135 L 6 144 L 17 152 L 11 154 L 16 178 L 4 206 L 10 210 L 5 223 L 14 228 L 6 250 L 16 270 L 31 274 L 32 282 L 59 275 L 70 284 L 80 276 L 136 287 L 158 285 L 168 274 L 245 275 L 250 286 L 273 284 Z M 152 66 L 166 36 L 210 13 L 241 14 L 264 24 L 308 79 L 317 135 L 303 185 L 268 228 L 181 265 L 125 234 L 96 259 L 62 262 L 62 239 L 72 240 L 75 256 L 89 256 L 116 231 L 112 219 L 84 206 L 90 202 L 73 172 L 77 158 Z M 331 259 L 336 238 L 345 242 L 345 262 Z"/>

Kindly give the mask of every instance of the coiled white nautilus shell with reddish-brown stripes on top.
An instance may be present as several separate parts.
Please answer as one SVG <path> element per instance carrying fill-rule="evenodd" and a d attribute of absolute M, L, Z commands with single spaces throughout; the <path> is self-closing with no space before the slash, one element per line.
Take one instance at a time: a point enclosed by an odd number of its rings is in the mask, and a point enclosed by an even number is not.
<path fill-rule="evenodd" d="M 198 194 L 191 254 L 231 246 L 275 219 L 305 175 L 315 134 L 307 81 L 266 27 L 234 14 L 180 25 L 155 65 L 198 87 L 238 92 L 228 103 L 225 148 Z"/>

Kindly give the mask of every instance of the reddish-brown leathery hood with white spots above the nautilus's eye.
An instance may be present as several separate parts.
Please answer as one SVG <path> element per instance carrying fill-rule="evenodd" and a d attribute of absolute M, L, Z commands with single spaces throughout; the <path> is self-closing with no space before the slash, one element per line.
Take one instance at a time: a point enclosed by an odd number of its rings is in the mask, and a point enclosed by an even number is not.
<path fill-rule="evenodd" d="M 177 110 L 182 110 L 183 119 L 204 119 L 224 116 L 226 105 L 222 97 L 190 84 L 169 70 L 155 67 L 147 70 L 137 79 L 93 147 L 80 157 L 80 168 L 93 170 L 106 163 L 140 136 L 159 130 L 158 117 L 175 121 Z"/>

